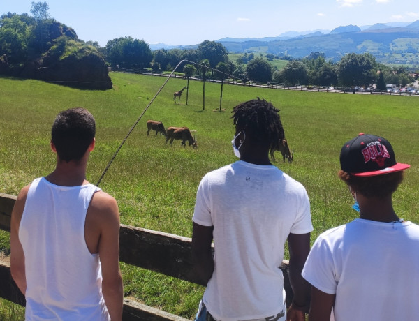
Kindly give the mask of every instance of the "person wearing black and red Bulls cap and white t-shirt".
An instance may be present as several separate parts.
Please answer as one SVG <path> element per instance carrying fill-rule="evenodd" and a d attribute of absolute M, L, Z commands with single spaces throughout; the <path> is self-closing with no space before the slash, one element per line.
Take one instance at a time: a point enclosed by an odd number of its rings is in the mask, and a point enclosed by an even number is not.
<path fill-rule="evenodd" d="M 311 283 L 310 321 L 418 320 L 419 226 L 399 218 L 392 193 L 410 165 L 383 137 L 344 144 L 339 177 L 360 217 L 323 232 L 302 271 Z"/>

